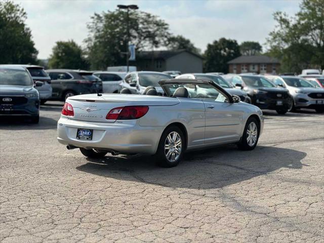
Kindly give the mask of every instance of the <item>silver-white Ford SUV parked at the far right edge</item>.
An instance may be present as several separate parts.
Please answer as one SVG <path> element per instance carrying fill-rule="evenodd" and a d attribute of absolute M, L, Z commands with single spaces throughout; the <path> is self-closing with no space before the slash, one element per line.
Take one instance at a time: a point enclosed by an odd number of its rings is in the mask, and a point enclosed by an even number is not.
<path fill-rule="evenodd" d="M 314 87 L 306 79 L 297 76 L 267 76 L 278 86 L 287 88 L 292 97 L 292 110 L 298 108 L 324 111 L 324 90 Z"/>

